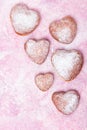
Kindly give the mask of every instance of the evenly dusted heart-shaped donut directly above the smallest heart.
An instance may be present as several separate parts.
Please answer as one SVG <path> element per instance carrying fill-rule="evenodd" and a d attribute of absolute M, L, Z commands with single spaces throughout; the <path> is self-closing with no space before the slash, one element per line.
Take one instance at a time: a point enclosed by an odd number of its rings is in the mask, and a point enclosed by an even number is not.
<path fill-rule="evenodd" d="M 24 45 L 25 51 L 31 60 L 37 64 L 42 64 L 47 58 L 50 42 L 46 39 L 29 39 Z"/>

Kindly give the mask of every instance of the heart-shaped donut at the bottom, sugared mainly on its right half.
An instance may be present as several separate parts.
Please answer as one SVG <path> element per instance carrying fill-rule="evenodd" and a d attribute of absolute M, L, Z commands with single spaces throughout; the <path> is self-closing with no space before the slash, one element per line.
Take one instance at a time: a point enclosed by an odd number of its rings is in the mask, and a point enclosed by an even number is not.
<path fill-rule="evenodd" d="M 52 95 L 52 101 L 57 110 L 65 115 L 69 115 L 76 110 L 79 100 L 79 93 L 75 90 L 54 92 Z"/>

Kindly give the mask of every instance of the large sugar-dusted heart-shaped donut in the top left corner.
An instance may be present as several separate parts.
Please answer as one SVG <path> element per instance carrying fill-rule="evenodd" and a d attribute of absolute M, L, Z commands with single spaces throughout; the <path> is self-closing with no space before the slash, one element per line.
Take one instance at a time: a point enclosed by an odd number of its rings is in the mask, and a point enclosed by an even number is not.
<path fill-rule="evenodd" d="M 10 12 L 12 26 L 16 33 L 26 35 L 31 33 L 39 25 L 40 14 L 30 9 L 26 4 L 16 4 Z"/>

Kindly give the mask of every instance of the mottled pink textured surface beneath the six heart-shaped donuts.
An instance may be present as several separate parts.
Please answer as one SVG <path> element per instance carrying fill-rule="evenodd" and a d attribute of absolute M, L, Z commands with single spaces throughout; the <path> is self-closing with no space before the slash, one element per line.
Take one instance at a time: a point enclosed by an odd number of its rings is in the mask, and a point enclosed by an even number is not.
<path fill-rule="evenodd" d="M 41 13 L 41 23 L 30 35 L 17 35 L 9 14 L 21 0 L 0 1 L 0 130 L 87 130 L 87 0 L 23 0 Z M 66 15 L 77 21 L 78 31 L 69 45 L 58 43 L 49 34 L 49 24 Z M 28 38 L 46 37 L 50 53 L 42 65 L 33 63 L 24 51 Z M 60 79 L 51 65 L 52 52 L 57 48 L 78 49 L 84 65 L 71 82 Z M 54 84 L 41 92 L 34 83 L 39 72 L 54 73 Z M 51 101 L 54 91 L 76 89 L 81 96 L 77 110 L 69 116 L 61 114 Z"/>

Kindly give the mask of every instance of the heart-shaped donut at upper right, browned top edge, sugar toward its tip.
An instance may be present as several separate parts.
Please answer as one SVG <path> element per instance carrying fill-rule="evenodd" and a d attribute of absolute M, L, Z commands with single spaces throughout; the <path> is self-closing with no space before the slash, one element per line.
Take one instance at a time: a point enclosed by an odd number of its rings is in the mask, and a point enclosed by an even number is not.
<path fill-rule="evenodd" d="M 77 24 L 74 18 L 66 16 L 60 20 L 53 21 L 49 26 L 49 31 L 57 41 L 69 44 L 76 36 Z"/>

